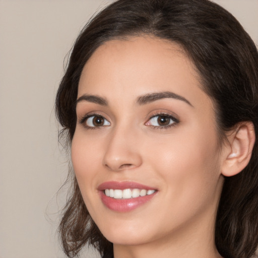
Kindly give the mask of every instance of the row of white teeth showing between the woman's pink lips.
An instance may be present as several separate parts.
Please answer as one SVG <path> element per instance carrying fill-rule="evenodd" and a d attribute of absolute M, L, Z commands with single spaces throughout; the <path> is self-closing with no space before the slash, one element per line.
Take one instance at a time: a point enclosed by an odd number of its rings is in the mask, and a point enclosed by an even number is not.
<path fill-rule="evenodd" d="M 146 190 L 146 189 L 105 189 L 105 195 L 108 197 L 112 197 L 114 199 L 130 199 L 143 197 L 146 195 L 152 195 L 155 190 Z"/>

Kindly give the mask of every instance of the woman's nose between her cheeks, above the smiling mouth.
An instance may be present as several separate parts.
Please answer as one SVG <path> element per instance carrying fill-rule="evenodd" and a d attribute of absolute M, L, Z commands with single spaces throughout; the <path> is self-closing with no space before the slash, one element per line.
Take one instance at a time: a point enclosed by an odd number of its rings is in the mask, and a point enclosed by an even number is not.
<path fill-rule="evenodd" d="M 140 141 L 136 134 L 116 128 L 111 135 L 105 155 L 103 165 L 112 171 L 122 171 L 141 166 L 142 156 L 140 154 Z"/>

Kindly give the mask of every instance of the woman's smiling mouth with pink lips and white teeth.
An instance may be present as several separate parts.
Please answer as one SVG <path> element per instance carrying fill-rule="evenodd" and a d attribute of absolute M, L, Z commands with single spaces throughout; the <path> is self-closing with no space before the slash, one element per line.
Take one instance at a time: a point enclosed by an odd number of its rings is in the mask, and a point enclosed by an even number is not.
<path fill-rule="evenodd" d="M 109 181 L 98 187 L 104 206 L 115 212 L 129 212 L 149 201 L 158 189 L 132 181 Z"/>

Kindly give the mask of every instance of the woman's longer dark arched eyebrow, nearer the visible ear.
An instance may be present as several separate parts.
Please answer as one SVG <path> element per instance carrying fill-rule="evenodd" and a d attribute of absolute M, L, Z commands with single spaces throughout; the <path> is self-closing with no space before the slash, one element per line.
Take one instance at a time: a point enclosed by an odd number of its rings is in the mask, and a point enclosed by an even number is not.
<path fill-rule="evenodd" d="M 149 94 L 142 95 L 142 96 L 137 98 L 136 103 L 138 105 L 145 105 L 145 104 L 148 104 L 150 102 L 154 102 L 156 100 L 165 99 L 165 98 L 178 99 L 178 100 L 184 101 L 185 103 L 187 103 L 188 105 L 193 107 L 193 105 L 186 98 L 184 98 L 184 97 L 182 97 L 178 94 L 175 94 L 173 92 L 170 92 L 170 91 L 154 92 L 154 93 L 149 93 Z"/>

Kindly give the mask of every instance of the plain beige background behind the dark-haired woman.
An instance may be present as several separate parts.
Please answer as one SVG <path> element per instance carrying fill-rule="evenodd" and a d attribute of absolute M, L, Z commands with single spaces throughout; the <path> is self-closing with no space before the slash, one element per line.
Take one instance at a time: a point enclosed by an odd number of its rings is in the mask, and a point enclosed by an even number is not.
<path fill-rule="evenodd" d="M 78 32 L 110 2 L 0 0 L 0 258 L 64 257 L 55 229 L 66 189 L 55 193 L 67 163 L 54 96 Z M 258 43 L 258 0 L 215 2 Z"/>

